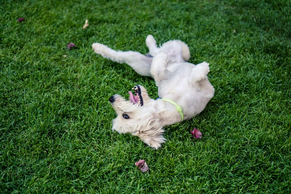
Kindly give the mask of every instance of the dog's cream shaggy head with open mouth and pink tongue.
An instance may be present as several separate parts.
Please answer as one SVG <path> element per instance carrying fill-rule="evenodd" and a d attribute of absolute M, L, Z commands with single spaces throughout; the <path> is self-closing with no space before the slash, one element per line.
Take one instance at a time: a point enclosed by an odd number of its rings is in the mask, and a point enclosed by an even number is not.
<path fill-rule="evenodd" d="M 133 89 L 134 94 L 129 92 L 129 100 L 120 95 L 109 98 L 117 114 L 112 121 L 112 130 L 139 136 L 143 142 L 157 149 L 166 139 L 163 137 L 163 126 L 156 118 L 154 100 L 148 97 L 143 86 L 137 85 Z"/>

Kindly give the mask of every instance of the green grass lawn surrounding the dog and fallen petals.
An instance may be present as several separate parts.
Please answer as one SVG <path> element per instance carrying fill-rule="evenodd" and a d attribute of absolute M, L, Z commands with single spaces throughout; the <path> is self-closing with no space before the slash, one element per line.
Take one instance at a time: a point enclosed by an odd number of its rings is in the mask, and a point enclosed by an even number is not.
<path fill-rule="evenodd" d="M 283 0 L 4 1 L 0 192 L 291 193 L 290 7 Z M 158 150 L 113 133 L 108 102 L 135 84 L 155 98 L 154 80 L 91 49 L 101 42 L 145 54 L 148 34 L 186 42 L 191 63 L 210 63 L 216 89 L 202 113 L 166 127 Z M 191 137 L 194 127 L 202 139 Z M 134 165 L 139 159 L 149 172 Z"/>

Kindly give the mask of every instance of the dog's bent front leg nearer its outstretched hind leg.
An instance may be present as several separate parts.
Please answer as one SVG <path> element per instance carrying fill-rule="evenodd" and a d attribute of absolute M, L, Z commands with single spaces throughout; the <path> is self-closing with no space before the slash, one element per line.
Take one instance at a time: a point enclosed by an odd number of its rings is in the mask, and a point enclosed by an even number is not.
<path fill-rule="evenodd" d="M 158 85 L 160 81 L 166 79 L 169 75 L 167 70 L 168 66 L 168 55 L 164 52 L 157 53 L 152 59 L 152 66 L 150 68 L 150 73 L 155 79 L 156 84 Z"/>

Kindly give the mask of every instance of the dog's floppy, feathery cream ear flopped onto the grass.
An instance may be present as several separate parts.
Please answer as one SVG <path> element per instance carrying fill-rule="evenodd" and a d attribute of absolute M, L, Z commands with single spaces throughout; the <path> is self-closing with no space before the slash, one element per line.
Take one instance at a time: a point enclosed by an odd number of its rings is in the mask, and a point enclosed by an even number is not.
<path fill-rule="evenodd" d="M 161 147 L 161 144 L 166 141 L 163 134 L 163 127 L 156 126 L 151 126 L 148 129 L 141 129 L 132 133 L 132 135 L 138 136 L 144 143 L 155 149 Z"/>

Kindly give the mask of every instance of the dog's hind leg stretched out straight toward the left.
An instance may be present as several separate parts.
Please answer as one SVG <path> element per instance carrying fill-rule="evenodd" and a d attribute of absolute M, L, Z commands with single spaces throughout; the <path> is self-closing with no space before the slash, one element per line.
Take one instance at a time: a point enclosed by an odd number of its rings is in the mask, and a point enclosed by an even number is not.
<path fill-rule="evenodd" d="M 93 43 L 92 49 L 95 53 L 101 54 L 104 58 L 108 58 L 117 63 L 126 63 L 142 76 L 152 77 L 150 74 L 152 57 L 147 57 L 134 51 L 115 51 L 100 43 Z"/>

